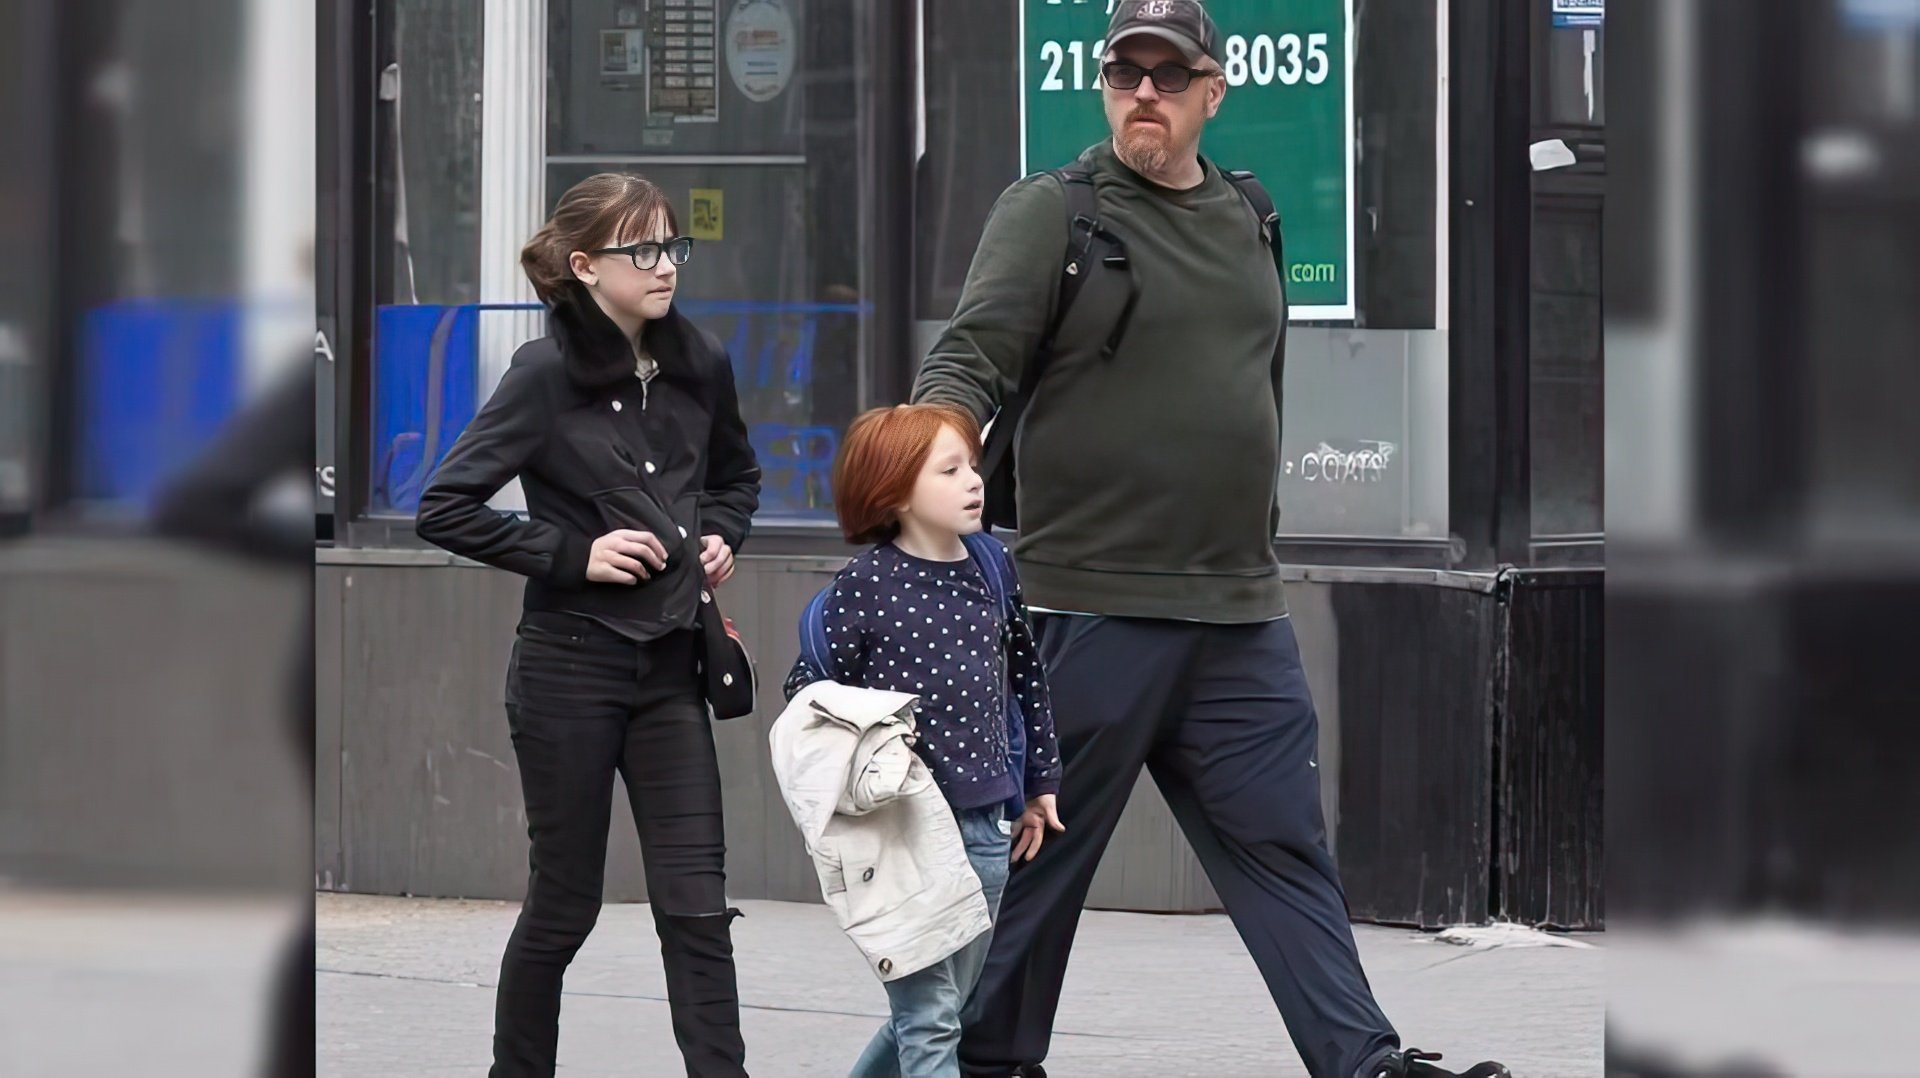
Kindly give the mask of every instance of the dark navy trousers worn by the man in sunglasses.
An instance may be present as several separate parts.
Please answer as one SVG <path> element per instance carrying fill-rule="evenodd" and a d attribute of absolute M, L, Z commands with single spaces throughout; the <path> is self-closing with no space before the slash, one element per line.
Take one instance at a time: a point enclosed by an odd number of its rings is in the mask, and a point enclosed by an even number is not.
<path fill-rule="evenodd" d="M 1359 967 L 1319 803 L 1319 719 L 1292 621 L 1039 615 L 1066 834 L 1014 865 L 962 1017 L 970 1078 L 1041 1063 L 1100 855 L 1146 767 L 1286 1020 L 1308 1074 L 1400 1045 Z"/>

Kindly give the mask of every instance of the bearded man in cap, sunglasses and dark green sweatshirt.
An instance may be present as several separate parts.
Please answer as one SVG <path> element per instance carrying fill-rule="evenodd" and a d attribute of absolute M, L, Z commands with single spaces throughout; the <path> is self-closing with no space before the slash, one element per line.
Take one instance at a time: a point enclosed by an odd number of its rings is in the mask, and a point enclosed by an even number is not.
<path fill-rule="evenodd" d="M 1227 96 L 1219 29 L 1192 0 L 1121 0 L 1106 42 L 1112 138 L 1000 194 L 914 382 L 916 402 L 1016 430 L 1014 557 L 1064 769 L 1064 830 L 1012 872 L 958 1070 L 1044 1076 L 1079 911 L 1150 767 L 1308 1072 L 1453 1074 L 1402 1047 L 1375 1001 L 1327 849 L 1319 719 L 1273 551 L 1279 217 L 1250 175 L 1200 156 Z M 1068 279 L 1073 317 L 1056 321 Z M 1000 415 L 1027 392 L 1037 407 Z M 1275 1065 L 1233 1072 L 1256 1068 Z"/>

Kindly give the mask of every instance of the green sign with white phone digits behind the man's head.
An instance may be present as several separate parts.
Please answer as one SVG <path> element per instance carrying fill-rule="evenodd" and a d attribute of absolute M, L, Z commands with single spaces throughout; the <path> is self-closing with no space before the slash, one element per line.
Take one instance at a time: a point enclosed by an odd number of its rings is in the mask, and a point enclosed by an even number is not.
<path fill-rule="evenodd" d="M 1020 148 L 1027 173 L 1108 138 L 1100 60 L 1114 0 L 1020 0 Z M 1200 152 L 1252 169 L 1286 229 L 1294 319 L 1354 317 L 1352 0 L 1210 0 L 1227 100 Z M 1198 83 L 1194 90 L 1198 92 Z"/>

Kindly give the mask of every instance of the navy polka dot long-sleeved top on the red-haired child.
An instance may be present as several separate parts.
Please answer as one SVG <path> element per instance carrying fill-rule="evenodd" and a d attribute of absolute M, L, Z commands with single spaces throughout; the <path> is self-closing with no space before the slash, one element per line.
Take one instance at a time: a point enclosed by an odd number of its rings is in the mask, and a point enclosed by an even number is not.
<path fill-rule="evenodd" d="M 1004 565 L 1012 582 L 1014 559 Z M 950 805 L 979 809 L 1016 792 L 1060 790 L 1052 705 L 1031 632 L 1008 626 L 972 559 L 925 561 L 876 546 L 835 576 L 824 621 L 833 680 L 920 698 L 916 751 Z M 797 661 L 787 699 L 818 676 Z M 1020 694 L 1027 724 L 1023 776 L 1008 771 L 1008 688 Z"/>

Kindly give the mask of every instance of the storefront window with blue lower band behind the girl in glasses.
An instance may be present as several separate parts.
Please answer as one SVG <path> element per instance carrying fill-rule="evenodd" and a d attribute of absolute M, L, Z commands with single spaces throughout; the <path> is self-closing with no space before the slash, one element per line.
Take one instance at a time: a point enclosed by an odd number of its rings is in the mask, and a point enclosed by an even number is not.
<path fill-rule="evenodd" d="M 678 304 L 732 355 L 764 473 L 760 521 L 829 523 L 872 313 L 856 4 L 543 0 L 540 15 L 543 44 L 515 60 L 545 69 L 545 135 L 528 148 L 541 211 L 601 171 L 668 192 L 699 240 Z M 538 309 L 480 284 L 482 184 L 511 171 L 482 169 L 482 56 L 503 50 L 482 50 L 480 6 L 399 0 L 394 19 L 399 65 L 382 88 L 399 88 L 388 169 L 405 190 L 376 327 L 372 507 L 403 515 L 505 367 L 482 354 L 541 329 Z M 495 505 L 520 507 L 516 490 Z"/>

